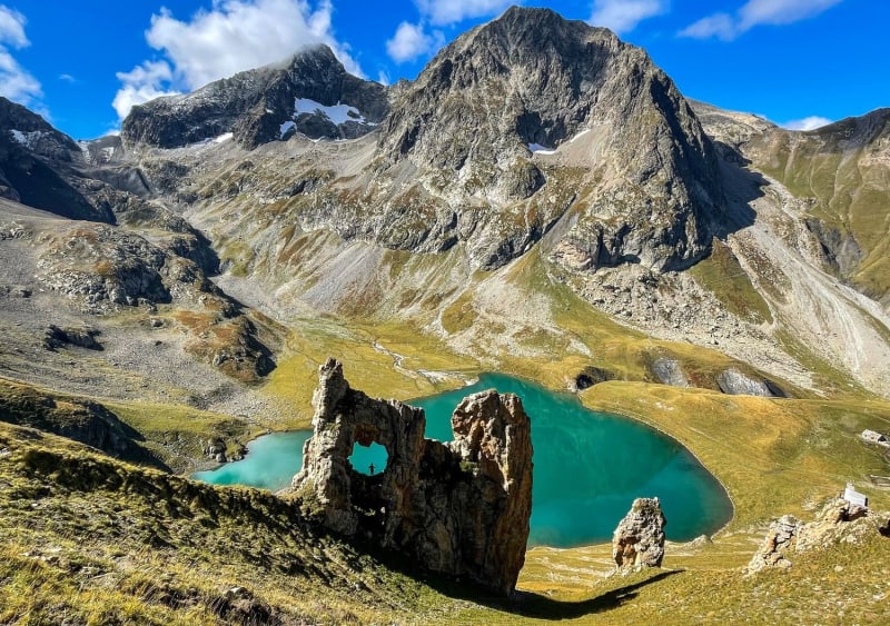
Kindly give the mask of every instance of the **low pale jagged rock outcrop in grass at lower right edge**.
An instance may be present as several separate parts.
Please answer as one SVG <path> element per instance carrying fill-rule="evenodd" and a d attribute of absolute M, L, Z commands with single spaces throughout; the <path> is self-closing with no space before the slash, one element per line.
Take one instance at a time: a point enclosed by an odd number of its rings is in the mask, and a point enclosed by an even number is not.
<path fill-rule="evenodd" d="M 837 498 L 822 508 L 813 521 L 804 524 L 793 515 L 784 515 L 770 525 L 763 545 L 745 568 L 755 574 L 765 567 L 792 566 L 794 554 L 823 549 L 838 541 L 859 544 L 870 533 L 880 533 L 887 514 L 873 514 L 868 508 Z"/>

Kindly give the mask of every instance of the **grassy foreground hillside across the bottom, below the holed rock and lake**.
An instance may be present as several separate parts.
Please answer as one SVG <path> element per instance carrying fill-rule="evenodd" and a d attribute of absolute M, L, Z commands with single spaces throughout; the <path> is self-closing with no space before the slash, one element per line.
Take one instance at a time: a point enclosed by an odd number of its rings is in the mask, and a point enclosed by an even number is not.
<path fill-rule="evenodd" d="M 0 623 L 573 624 L 887 618 L 890 539 L 744 578 L 742 534 L 609 576 L 609 548 L 537 548 L 512 600 L 412 578 L 268 493 L 219 488 L 0 424 Z"/>

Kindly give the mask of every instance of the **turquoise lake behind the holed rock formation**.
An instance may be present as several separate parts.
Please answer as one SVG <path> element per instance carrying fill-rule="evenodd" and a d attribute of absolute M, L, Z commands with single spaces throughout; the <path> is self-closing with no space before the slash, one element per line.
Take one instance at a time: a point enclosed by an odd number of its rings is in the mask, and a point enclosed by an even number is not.
<path fill-rule="evenodd" d="M 468 387 L 409 404 L 426 410 L 426 436 L 452 439 L 451 415 L 467 395 L 495 388 L 516 394 L 532 419 L 534 474 L 530 545 L 572 547 L 611 540 L 637 497 L 661 499 L 669 539 L 684 541 L 718 530 L 732 516 L 723 487 L 680 444 L 637 421 L 584 408 L 571 394 L 553 393 L 501 374 Z M 309 431 L 276 433 L 248 445 L 249 454 L 195 478 L 217 485 L 277 490 L 299 471 Z M 386 454 L 356 447 L 360 471 L 380 471 Z"/>

